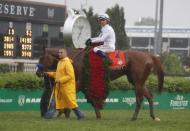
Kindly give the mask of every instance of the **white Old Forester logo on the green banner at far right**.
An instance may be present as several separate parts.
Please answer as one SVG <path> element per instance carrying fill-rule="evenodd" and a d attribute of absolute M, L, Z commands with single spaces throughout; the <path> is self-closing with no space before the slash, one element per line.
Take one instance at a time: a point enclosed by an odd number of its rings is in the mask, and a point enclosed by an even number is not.
<path fill-rule="evenodd" d="M 173 109 L 185 109 L 188 106 L 188 100 L 183 95 L 177 95 L 174 100 L 170 100 L 170 107 Z"/>

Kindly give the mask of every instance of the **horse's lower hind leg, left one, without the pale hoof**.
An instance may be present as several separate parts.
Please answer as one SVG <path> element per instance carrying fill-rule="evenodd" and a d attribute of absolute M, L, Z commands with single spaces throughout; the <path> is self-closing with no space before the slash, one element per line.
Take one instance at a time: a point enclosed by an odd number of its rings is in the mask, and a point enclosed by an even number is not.
<path fill-rule="evenodd" d="M 132 121 L 137 120 L 137 117 L 141 108 L 141 103 L 143 101 L 143 93 L 139 89 L 141 88 L 139 87 L 136 88 L 136 107 L 135 107 L 135 112 L 131 118 Z"/>

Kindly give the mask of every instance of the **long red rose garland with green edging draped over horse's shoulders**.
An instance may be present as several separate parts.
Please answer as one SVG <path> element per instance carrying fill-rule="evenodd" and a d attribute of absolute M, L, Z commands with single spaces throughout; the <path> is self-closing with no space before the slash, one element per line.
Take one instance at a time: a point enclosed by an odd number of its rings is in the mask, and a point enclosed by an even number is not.
<path fill-rule="evenodd" d="M 88 102 L 96 101 L 93 106 L 102 108 L 104 100 L 108 95 L 108 65 L 103 59 L 94 53 L 92 50 L 85 57 L 85 74 L 83 78 L 84 87 L 86 90 L 85 96 Z M 86 82 L 86 83 L 85 83 Z"/>

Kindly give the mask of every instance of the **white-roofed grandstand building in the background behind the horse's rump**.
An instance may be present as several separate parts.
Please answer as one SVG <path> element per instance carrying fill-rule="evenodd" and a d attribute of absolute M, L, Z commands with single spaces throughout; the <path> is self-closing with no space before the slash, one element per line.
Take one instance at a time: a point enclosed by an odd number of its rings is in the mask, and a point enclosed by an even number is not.
<path fill-rule="evenodd" d="M 154 26 L 130 26 L 126 33 L 132 49 L 154 52 Z M 190 56 L 190 28 L 163 27 L 162 37 L 162 53 Z"/>

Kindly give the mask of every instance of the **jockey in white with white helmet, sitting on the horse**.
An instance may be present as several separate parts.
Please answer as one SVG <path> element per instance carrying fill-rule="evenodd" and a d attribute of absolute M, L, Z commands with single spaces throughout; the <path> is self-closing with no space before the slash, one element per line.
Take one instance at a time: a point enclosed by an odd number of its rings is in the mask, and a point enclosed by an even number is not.
<path fill-rule="evenodd" d="M 115 32 L 109 25 L 110 18 L 108 14 L 100 14 L 98 21 L 101 25 L 101 33 L 98 37 L 90 38 L 86 41 L 86 45 L 93 45 L 94 43 L 103 43 L 93 48 L 93 51 L 99 56 L 106 58 L 106 53 L 115 50 Z"/>

